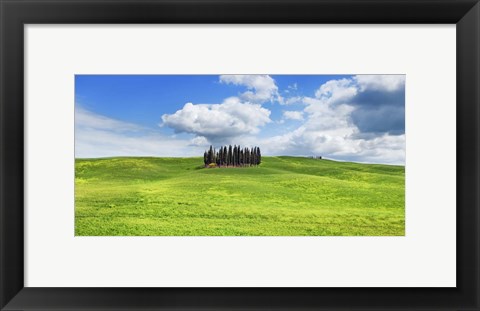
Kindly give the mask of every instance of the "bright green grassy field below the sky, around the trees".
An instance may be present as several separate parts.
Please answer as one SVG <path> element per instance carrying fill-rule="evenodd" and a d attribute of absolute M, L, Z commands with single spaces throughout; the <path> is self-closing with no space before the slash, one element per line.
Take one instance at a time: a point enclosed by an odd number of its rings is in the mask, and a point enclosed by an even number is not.
<path fill-rule="evenodd" d="M 77 236 L 402 236 L 405 168 L 300 157 L 77 159 Z"/>

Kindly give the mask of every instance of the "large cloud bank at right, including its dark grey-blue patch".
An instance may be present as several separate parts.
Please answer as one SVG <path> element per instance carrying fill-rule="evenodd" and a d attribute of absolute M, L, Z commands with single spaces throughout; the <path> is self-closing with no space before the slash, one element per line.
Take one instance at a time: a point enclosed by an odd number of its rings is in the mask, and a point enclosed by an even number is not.
<path fill-rule="evenodd" d="M 305 121 L 291 132 L 263 140 L 264 151 L 404 164 L 404 83 L 404 76 L 328 81 L 315 97 L 296 99 L 305 105 Z"/>

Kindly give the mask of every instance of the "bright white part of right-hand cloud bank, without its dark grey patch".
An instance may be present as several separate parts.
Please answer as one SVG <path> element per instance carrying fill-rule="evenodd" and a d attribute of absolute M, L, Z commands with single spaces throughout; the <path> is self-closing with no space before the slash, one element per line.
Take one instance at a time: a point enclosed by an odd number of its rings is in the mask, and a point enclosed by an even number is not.
<path fill-rule="evenodd" d="M 362 79 L 360 79 L 362 80 Z M 264 154 L 322 155 L 338 160 L 370 163 L 405 163 L 405 135 L 366 137 L 352 121 L 357 109 L 352 100 L 367 88 L 398 88 L 400 78 L 331 80 L 321 85 L 315 98 L 302 97 L 305 122 L 297 129 L 259 142 Z M 286 100 L 288 102 L 289 99 Z"/>

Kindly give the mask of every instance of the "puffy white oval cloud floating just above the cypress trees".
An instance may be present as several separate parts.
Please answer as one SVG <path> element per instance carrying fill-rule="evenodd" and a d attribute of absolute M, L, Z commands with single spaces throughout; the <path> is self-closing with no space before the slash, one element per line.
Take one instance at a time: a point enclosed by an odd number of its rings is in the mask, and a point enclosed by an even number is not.
<path fill-rule="evenodd" d="M 209 141 L 256 134 L 259 127 L 271 122 L 270 110 L 243 103 L 237 97 L 227 98 L 222 104 L 187 103 L 174 114 L 164 114 L 162 121 L 177 133 L 191 133 Z"/>

